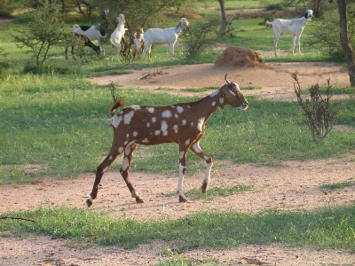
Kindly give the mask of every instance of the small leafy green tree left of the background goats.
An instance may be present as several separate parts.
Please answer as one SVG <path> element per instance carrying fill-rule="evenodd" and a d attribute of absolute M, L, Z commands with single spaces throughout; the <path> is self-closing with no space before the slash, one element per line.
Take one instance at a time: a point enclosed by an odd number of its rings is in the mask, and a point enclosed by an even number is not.
<path fill-rule="evenodd" d="M 51 48 L 59 46 L 64 39 L 66 25 L 60 21 L 59 6 L 49 0 L 41 2 L 36 10 L 34 20 L 28 23 L 28 31 L 20 31 L 20 35 L 13 35 L 16 45 L 27 52 L 33 53 L 35 68 L 39 70 L 46 59 L 52 55 Z"/>

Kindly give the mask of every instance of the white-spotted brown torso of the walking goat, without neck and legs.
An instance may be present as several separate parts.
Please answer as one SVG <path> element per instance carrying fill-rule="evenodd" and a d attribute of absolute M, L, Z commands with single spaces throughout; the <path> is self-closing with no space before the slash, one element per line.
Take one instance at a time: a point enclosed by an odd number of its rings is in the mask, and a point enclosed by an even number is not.
<path fill-rule="evenodd" d="M 193 109 L 193 107 L 190 107 Z M 142 145 L 179 143 L 197 137 L 203 130 L 204 120 L 196 118 L 195 112 L 185 105 L 130 106 L 114 114 L 112 126 L 119 139 Z"/>

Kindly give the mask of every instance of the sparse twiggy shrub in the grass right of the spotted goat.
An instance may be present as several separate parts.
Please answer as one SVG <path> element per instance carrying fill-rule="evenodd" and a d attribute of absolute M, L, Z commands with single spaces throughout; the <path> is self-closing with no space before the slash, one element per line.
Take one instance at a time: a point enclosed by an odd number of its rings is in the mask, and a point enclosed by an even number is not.
<path fill-rule="evenodd" d="M 301 86 L 298 82 L 296 74 L 292 76 L 296 83 L 294 84 L 294 90 L 298 103 L 304 110 L 304 116 L 306 117 L 307 124 L 311 130 L 313 141 L 321 140 L 327 137 L 327 134 L 333 128 L 333 121 L 336 118 L 336 113 L 339 109 L 333 107 L 330 103 L 330 81 L 327 80 L 327 98 L 322 98 L 320 95 L 318 83 L 311 87 L 310 98 L 301 97 Z"/>

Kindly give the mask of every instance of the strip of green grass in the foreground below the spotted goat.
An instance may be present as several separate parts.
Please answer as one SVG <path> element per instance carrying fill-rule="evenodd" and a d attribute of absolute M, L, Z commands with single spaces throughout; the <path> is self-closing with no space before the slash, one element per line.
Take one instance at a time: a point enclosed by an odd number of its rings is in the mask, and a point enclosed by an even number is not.
<path fill-rule="evenodd" d="M 114 220 L 88 210 L 55 207 L 20 211 L 6 216 L 35 222 L 4 219 L 0 231 L 7 235 L 46 234 L 104 246 L 135 248 L 162 240 L 167 249 L 184 252 L 195 248 L 226 249 L 241 244 L 312 246 L 315 249 L 355 250 L 355 207 L 326 207 L 294 213 L 269 209 L 256 214 L 203 212 L 178 220 Z"/>

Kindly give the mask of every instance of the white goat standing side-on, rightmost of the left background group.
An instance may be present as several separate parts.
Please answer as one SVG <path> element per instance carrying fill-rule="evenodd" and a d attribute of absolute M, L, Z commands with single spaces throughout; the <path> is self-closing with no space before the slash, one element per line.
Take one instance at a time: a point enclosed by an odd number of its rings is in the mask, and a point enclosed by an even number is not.
<path fill-rule="evenodd" d="M 172 59 L 174 57 L 174 45 L 177 43 L 177 36 L 185 26 L 188 27 L 189 25 L 189 22 L 185 18 L 182 18 L 177 27 L 164 29 L 148 28 L 144 34 L 145 48 L 143 50 L 142 60 L 145 58 L 146 51 L 148 51 L 149 59 L 151 59 L 152 44 L 162 43 L 170 44 L 170 57 Z"/>

